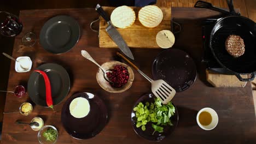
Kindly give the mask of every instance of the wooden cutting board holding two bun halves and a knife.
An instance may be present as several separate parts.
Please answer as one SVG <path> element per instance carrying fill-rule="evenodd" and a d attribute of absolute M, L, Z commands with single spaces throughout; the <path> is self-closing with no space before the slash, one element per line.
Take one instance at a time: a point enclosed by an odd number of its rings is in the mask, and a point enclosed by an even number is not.
<path fill-rule="evenodd" d="M 110 16 L 114 7 L 102 7 L 106 13 Z M 142 26 L 141 22 L 138 20 L 138 11 L 141 8 L 131 7 L 136 14 L 135 23 L 128 28 L 117 28 L 119 33 L 122 35 L 129 47 L 137 48 L 160 48 L 156 44 L 156 34 L 163 30 L 171 30 L 171 7 L 162 7 L 162 13 L 164 14 L 164 19 L 154 28 L 147 28 Z M 105 28 L 107 27 L 107 22 L 100 16 L 100 28 L 99 28 L 99 45 L 103 48 L 113 48 L 118 47 L 114 41 L 109 37 Z"/>

